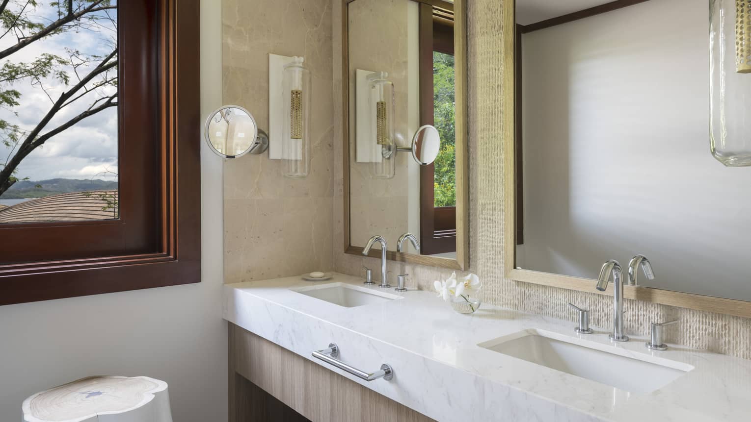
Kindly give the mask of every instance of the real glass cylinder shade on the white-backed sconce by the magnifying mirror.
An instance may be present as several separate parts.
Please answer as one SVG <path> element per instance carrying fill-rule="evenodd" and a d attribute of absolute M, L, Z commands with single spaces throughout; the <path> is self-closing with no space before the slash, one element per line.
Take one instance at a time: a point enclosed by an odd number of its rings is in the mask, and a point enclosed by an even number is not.
<path fill-rule="evenodd" d="M 284 67 L 282 78 L 282 175 L 286 178 L 306 178 L 310 171 L 311 145 L 309 138 L 310 71 L 303 66 L 302 57 L 294 57 Z"/>

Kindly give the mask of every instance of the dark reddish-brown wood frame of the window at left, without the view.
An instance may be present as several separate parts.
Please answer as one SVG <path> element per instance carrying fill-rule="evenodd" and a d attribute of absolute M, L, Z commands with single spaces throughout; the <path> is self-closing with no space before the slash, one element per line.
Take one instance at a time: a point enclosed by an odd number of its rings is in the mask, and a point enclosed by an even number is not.
<path fill-rule="evenodd" d="M 118 21 L 119 219 L 0 226 L 0 305 L 201 281 L 199 1 Z"/>

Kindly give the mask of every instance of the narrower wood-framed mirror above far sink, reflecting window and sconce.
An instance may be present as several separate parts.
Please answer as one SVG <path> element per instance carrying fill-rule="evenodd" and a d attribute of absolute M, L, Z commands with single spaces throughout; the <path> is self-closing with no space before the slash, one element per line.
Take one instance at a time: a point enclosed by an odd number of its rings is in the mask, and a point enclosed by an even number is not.
<path fill-rule="evenodd" d="M 343 1 L 345 252 L 463 269 L 464 0 Z"/>

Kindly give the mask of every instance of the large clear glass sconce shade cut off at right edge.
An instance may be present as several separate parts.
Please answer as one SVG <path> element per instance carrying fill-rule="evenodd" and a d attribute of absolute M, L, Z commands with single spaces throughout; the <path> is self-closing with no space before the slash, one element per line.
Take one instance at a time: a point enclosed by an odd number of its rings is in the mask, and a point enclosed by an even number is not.
<path fill-rule="evenodd" d="M 751 0 L 710 0 L 710 145 L 751 166 Z"/>

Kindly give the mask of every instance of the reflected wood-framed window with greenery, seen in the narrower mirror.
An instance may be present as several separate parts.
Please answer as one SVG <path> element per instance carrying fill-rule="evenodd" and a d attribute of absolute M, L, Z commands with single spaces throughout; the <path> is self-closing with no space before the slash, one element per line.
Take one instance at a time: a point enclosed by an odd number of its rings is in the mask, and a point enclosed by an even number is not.
<path fill-rule="evenodd" d="M 441 135 L 435 163 L 420 169 L 421 253 L 456 251 L 456 86 L 454 22 L 451 10 L 421 4 L 421 124 L 433 124 Z"/>

